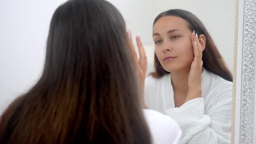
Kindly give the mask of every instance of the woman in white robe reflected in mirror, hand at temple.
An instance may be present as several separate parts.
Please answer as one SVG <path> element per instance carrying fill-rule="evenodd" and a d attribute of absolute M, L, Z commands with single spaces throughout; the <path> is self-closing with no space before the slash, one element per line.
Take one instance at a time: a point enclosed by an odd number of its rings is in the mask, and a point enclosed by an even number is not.
<path fill-rule="evenodd" d="M 167 10 L 153 23 L 153 40 L 148 107 L 179 123 L 181 144 L 231 143 L 232 75 L 202 22 L 186 10 Z"/>

